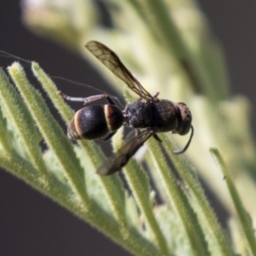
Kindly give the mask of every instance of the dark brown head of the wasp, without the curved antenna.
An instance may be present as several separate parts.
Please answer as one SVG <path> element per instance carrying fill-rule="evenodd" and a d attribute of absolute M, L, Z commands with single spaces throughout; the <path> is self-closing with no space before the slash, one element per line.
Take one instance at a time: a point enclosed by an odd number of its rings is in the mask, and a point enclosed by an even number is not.
<path fill-rule="evenodd" d="M 187 105 L 183 102 L 178 102 L 177 107 L 179 108 L 180 115 L 178 117 L 178 126 L 176 132 L 179 135 L 185 135 L 191 128 L 192 115 Z"/>

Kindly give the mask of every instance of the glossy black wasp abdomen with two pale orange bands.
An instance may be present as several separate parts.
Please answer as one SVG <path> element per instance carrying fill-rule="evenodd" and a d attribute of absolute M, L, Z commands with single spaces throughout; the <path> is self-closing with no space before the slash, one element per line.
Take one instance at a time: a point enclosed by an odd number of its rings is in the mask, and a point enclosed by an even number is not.
<path fill-rule="evenodd" d="M 92 105 L 75 113 L 67 127 L 67 137 L 77 139 L 96 139 L 116 131 L 123 124 L 121 110 L 114 105 Z"/>

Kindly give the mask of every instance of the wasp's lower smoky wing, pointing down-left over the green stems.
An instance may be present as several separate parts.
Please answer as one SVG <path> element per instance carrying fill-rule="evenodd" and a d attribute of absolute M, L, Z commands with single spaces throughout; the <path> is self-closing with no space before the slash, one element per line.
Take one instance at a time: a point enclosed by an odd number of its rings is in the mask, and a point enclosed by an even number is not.
<path fill-rule="evenodd" d="M 154 134 L 152 130 L 143 130 L 131 138 L 125 145 L 110 156 L 108 160 L 97 170 L 100 175 L 109 175 L 113 172 L 119 171 L 123 166 L 126 165 L 131 156 L 135 154 L 138 148 L 143 146 L 149 137 Z"/>

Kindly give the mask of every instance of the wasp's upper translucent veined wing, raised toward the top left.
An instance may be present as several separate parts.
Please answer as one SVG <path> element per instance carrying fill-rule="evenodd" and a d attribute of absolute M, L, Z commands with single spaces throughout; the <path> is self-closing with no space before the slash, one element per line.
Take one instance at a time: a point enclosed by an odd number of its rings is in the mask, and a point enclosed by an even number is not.
<path fill-rule="evenodd" d="M 137 79 L 133 77 L 131 72 L 125 67 L 125 65 L 119 60 L 119 57 L 107 46 L 96 41 L 90 41 L 85 44 L 85 47 L 90 50 L 91 54 L 101 61 L 110 71 L 112 71 L 119 79 L 123 80 L 131 90 L 137 95 L 152 101 L 152 96 L 147 90 L 143 88 Z"/>

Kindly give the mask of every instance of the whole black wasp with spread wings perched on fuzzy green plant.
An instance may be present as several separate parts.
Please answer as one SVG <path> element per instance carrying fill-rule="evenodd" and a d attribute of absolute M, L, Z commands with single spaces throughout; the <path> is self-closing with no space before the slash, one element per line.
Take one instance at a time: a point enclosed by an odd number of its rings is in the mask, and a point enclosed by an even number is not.
<path fill-rule="evenodd" d="M 70 97 L 60 93 L 68 101 L 84 102 L 84 104 L 95 102 L 102 98 L 106 98 L 108 101 L 107 105 L 91 105 L 75 113 L 70 125 L 67 127 L 67 137 L 70 139 L 90 140 L 99 138 L 107 141 L 110 137 L 113 137 L 121 125 L 137 129 L 136 135 L 108 158 L 97 170 L 97 173 L 109 175 L 119 171 L 149 137 L 153 136 L 157 141 L 161 142 L 160 137 L 156 134 L 157 132 L 172 131 L 172 133 L 185 135 L 191 129 L 189 142 L 183 149 L 174 151 L 174 154 L 185 152 L 189 148 L 189 143 L 194 133 L 189 108 L 182 102 L 175 103 L 168 100 L 160 100 L 158 98 L 159 93 L 151 96 L 143 88 L 143 85 L 132 76 L 119 60 L 119 57 L 104 44 L 90 41 L 85 47 L 140 96 L 137 102 L 128 104 L 122 111 L 115 105 L 111 97 L 106 94 L 82 98 Z"/>

